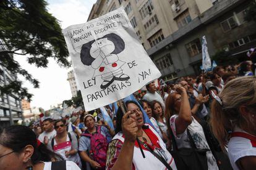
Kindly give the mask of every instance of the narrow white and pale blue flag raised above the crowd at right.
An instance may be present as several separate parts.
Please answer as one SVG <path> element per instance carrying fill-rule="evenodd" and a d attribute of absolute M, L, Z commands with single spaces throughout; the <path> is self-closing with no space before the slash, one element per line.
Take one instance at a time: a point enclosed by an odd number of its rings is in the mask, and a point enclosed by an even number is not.
<path fill-rule="evenodd" d="M 208 54 L 207 41 L 205 36 L 202 37 L 202 65 L 204 71 L 211 68 L 211 59 Z"/>

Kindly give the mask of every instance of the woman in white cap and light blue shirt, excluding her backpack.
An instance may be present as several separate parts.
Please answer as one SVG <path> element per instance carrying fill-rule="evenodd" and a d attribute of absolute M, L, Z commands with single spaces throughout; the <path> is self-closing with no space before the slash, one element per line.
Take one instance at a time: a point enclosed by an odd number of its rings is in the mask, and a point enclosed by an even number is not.
<path fill-rule="evenodd" d="M 84 118 L 85 126 L 87 127 L 87 130 L 83 132 L 82 136 L 79 139 L 79 152 L 81 159 L 85 161 L 86 163 L 86 169 L 100 169 L 103 168 L 100 166 L 100 163 L 93 160 L 89 155 L 90 151 L 92 150 L 91 144 L 90 144 L 90 137 L 85 136 L 85 134 L 96 134 L 98 126 L 95 124 L 95 118 L 93 115 L 85 115 Z M 107 136 L 110 136 L 109 130 L 105 126 L 100 126 L 100 134 L 106 137 L 106 142 L 110 142 L 110 140 L 107 138 Z"/>

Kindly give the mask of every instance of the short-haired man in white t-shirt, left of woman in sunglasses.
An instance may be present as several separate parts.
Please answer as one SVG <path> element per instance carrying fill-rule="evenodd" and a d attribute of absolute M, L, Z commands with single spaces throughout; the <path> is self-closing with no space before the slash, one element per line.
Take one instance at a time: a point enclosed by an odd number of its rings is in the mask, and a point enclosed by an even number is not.
<path fill-rule="evenodd" d="M 40 134 L 38 140 L 47 145 L 54 136 L 56 136 L 56 131 L 54 130 L 53 119 L 46 118 L 43 120 L 43 133 Z"/>

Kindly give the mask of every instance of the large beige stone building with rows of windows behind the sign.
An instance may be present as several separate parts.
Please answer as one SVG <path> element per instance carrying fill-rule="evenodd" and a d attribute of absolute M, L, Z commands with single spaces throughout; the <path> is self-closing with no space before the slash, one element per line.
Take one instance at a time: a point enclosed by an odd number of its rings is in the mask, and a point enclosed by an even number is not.
<path fill-rule="evenodd" d="M 252 1 L 252 0 L 251 0 Z M 208 52 L 240 60 L 256 46 L 256 24 L 245 22 L 246 0 L 98 0 L 88 20 L 124 7 L 142 46 L 165 81 L 200 73 L 202 36 Z"/>

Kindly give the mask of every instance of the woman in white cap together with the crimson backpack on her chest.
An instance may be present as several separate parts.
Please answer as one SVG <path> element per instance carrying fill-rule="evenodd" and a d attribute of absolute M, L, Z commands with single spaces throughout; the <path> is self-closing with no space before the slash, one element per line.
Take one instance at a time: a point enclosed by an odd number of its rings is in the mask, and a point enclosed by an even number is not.
<path fill-rule="evenodd" d="M 85 115 L 84 119 L 87 130 L 79 139 L 79 152 L 83 161 L 86 162 L 86 169 L 105 169 L 106 151 L 111 136 L 104 126 L 96 126 L 92 115 Z"/>

